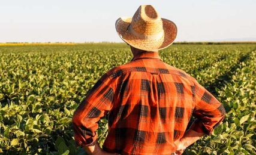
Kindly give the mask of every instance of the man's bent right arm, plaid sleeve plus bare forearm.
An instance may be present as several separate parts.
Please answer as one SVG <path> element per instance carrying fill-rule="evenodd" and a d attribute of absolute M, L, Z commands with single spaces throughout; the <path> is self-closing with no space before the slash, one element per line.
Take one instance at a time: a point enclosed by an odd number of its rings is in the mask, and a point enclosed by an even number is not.
<path fill-rule="evenodd" d="M 200 139 L 204 134 L 212 134 L 213 129 L 222 122 L 226 113 L 222 104 L 209 91 L 194 78 L 192 78 L 192 81 L 194 82 L 192 94 L 195 101 L 193 116 L 196 119 L 192 123 L 191 128 L 176 142 L 178 147 L 176 154 L 181 154 L 186 147 Z"/>

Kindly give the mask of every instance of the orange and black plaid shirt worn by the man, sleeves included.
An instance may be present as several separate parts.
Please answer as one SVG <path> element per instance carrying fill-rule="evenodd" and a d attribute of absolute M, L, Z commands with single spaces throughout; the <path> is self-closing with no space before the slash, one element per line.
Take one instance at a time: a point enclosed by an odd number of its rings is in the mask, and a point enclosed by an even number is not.
<path fill-rule="evenodd" d="M 191 116 L 194 131 L 210 135 L 224 119 L 216 98 L 158 52 L 141 52 L 105 73 L 73 116 L 77 145 L 97 142 L 98 120 L 106 116 L 109 134 L 103 150 L 121 154 L 171 154 Z"/>

